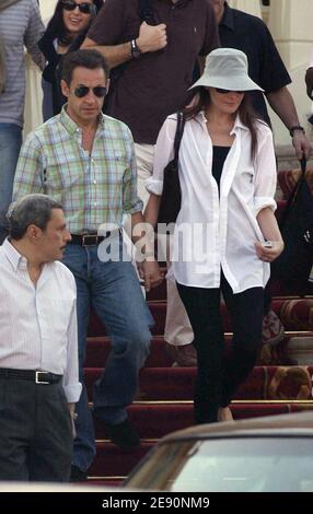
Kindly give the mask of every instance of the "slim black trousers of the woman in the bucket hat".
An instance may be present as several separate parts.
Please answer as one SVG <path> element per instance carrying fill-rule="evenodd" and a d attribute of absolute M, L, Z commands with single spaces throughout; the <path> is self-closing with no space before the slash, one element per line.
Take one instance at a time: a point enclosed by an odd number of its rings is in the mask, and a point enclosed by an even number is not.
<path fill-rule="evenodd" d="M 264 289 L 233 294 L 225 278 L 219 289 L 192 288 L 177 283 L 197 351 L 198 370 L 194 393 L 196 423 L 217 421 L 219 407 L 227 407 L 239 385 L 253 370 L 262 346 Z M 233 338 L 225 353 L 221 292 L 232 317 Z"/>

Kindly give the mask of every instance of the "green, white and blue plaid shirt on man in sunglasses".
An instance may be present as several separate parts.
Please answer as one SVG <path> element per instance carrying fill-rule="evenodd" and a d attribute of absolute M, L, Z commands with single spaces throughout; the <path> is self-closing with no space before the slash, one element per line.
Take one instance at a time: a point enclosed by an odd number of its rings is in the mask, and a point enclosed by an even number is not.
<path fill-rule="evenodd" d="M 96 232 L 106 223 L 121 226 L 123 213 L 142 209 L 129 128 L 101 114 L 90 154 L 82 148 L 82 129 L 63 108 L 22 147 L 13 201 L 31 192 L 60 201 L 73 234 Z"/>

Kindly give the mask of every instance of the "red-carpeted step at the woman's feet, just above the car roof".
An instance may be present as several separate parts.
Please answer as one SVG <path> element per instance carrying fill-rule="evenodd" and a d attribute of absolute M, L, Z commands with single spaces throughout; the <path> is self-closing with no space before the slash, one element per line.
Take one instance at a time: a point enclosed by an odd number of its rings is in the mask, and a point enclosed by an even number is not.
<path fill-rule="evenodd" d="M 260 416 L 274 416 L 288 413 L 295 410 L 312 409 L 308 404 L 286 402 L 232 402 L 231 410 L 235 420 L 254 418 Z M 163 435 L 175 430 L 186 429 L 194 424 L 193 401 L 184 404 L 167 402 L 162 404 L 134 404 L 128 409 L 128 416 L 138 430 L 141 439 L 159 440 Z M 97 440 L 106 439 L 103 424 L 98 419 L 94 419 L 95 436 Z"/>

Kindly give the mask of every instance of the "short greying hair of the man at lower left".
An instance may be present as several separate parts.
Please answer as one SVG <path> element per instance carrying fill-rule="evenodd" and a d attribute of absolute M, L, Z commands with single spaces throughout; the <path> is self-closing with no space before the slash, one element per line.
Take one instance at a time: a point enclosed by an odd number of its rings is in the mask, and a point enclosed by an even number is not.
<path fill-rule="evenodd" d="M 45 231 L 51 219 L 53 209 L 62 209 L 61 203 L 47 195 L 27 195 L 9 210 L 9 233 L 12 240 L 19 241 L 26 234 L 30 225 Z"/>

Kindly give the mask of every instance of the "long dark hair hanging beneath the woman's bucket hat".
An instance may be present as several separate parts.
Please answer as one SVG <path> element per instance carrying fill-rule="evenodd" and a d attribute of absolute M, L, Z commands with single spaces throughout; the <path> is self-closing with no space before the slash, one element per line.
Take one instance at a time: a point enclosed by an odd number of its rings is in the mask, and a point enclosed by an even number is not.
<path fill-rule="evenodd" d="M 194 118 L 200 110 L 205 110 L 206 107 L 210 104 L 210 93 L 205 87 L 199 87 L 198 90 L 198 100 L 195 105 L 192 107 L 186 107 L 183 113 L 186 119 Z M 243 125 L 245 125 L 251 132 L 251 160 L 254 161 L 256 151 L 257 151 L 257 132 L 255 121 L 257 115 L 255 114 L 251 97 L 248 94 L 245 94 L 240 106 L 239 106 L 239 116 Z"/>

